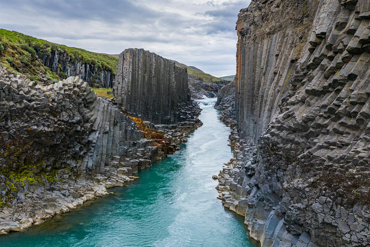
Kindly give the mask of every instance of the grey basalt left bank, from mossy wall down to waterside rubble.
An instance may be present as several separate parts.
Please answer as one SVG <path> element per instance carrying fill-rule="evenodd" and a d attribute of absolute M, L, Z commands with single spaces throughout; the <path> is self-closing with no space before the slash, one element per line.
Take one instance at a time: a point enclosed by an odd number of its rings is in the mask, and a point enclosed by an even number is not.
<path fill-rule="evenodd" d="M 179 112 L 187 121 L 158 126 L 172 144 L 202 124 L 194 102 Z M 0 234 L 108 194 L 163 159 L 166 146 L 132 119 L 79 77 L 45 86 L 0 66 Z"/>

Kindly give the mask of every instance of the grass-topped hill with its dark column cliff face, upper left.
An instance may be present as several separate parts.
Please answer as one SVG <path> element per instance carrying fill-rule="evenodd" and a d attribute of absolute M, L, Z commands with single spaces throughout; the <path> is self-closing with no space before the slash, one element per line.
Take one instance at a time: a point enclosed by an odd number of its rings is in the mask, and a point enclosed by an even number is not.
<path fill-rule="evenodd" d="M 50 84 L 78 76 L 92 87 L 112 87 L 118 59 L 0 29 L 0 61 L 28 78 Z"/>

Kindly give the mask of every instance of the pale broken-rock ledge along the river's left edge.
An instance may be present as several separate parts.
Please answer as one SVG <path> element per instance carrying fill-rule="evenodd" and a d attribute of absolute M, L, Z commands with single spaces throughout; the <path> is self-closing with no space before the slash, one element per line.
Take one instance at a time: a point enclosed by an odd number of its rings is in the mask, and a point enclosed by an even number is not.
<path fill-rule="evenodd" d="M 190 115 L 199 114 L 200 109 L 195 103 Z M 186 142 L 187 135 L 200 126 L 202 122 L 195 117 L 178 124 L 158 125 L 155 129 L 163 131 L 170 143 L 180 144 Z M 159 144 L 155 144 L 155 140 L 147 139 L 131 142 L 127 152 L 131 153 L 132 158 L 127 160 L 129 166 L 126 167 L 111 161 L 117 164 L 106 167 L 100 174 L 75 180 L 70 179 L 67 169 L 61 169 L 55 175 L 56 181 L 25 184 L 27 193 L 19 192 L 18 201 L 0 211 L 0 235 L 41 224 L 55 214 L 66 213 L 83 205 L 85 201 L 107 195 L 109 188 L 131 183 L 138 178 L 138 170 L 150 168 L 153 162 L 166 157 L 164 152 L 158 151 L 156 145 Z"/>

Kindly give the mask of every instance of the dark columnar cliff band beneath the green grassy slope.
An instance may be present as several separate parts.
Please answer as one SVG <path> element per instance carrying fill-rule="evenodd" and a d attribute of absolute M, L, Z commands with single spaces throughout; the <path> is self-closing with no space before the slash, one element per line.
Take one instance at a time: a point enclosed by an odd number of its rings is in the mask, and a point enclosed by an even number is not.
<path fill-rule="evenodd" d="M 59 76 L 61 73 L 66 77 L 78 76 L 92 87 L 112 87 L 115 80 L 115 71 L 84 62 L 83 59 L 76 59 L 63 50 L 51 49 L 50 54 L 44 55 L 40 55 L 38 50 L 36 52 L 43 65 Z"/>

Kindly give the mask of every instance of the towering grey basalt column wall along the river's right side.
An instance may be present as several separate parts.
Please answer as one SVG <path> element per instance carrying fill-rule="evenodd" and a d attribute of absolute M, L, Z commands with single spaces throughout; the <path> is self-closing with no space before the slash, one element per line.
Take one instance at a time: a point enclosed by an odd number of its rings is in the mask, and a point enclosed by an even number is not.
<path fill-rule="evenodd" d="M 225 206 L 262 246 L 369 246 L 369 0 L 253 0 L 238 17 Z"/>

